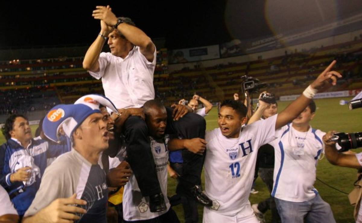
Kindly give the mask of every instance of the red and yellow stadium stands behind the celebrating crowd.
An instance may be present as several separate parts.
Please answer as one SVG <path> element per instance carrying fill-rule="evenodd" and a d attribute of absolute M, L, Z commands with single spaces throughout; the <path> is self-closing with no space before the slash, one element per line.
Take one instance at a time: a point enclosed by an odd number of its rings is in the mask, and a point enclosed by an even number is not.
<path fill-rule="evenodd" d="M 268 83 L 265 90 L 277 97 L 300 94 L 333 59 L 344 79 L 331 91 L 357 89 L 362 88 L 361 55 L 362 40 L 358 40 L 245 63 L 225 65 L 215 60 L 214 66 L 203 67 L 198 62 L 193 69 L 168 73 L 167 50 L 161 49 L 157 51 L 155 94 L 165 104 L 190 99 L 195 93 L 218 102 L 240 92 L 244 75 Z M 0 114 L 43 111 L 54 104 L 73 103 L 85 94 L 103 94 L 101 81 L 83 69 L 82 61 L 83 57 L 1 61 L 0 95 L 4 100 Z M 20 103 L 24 96 L 26 103 Z"/>

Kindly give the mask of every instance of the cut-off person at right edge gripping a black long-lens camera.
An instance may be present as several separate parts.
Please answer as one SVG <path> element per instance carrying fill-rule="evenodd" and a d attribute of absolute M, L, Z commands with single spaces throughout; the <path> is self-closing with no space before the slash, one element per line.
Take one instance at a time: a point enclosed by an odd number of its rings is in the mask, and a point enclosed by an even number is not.
<path fill-rule="evenodd" d="M 350 203 L 354 205 L 353 216 L 356 223 L 362 223 L 362 208 L 361 208 L 361 197 L 362 197 L 362 153 L 347 154 L 338 153 L 336 141 L 332 140 L 336 131 L 329 131 L 323 136 L 324 152 L 327 160 L 336 166 L 348 167 L 358 169 L 358 179 L 354 182 L 354 190 L 349 194 Z M 343 146 L 342 146 L 343 147 Z"/>

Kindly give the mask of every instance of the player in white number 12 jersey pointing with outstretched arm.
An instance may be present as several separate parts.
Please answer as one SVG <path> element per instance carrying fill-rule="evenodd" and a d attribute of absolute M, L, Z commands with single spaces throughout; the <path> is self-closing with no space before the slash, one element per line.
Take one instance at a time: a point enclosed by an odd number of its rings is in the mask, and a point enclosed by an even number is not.
<path fill-rule="evenodd" d="M 333 61 L 285 110 L 268 119 L 243 127 L 247 108 L 235 100 L 222 103 L 219 128 L 207 132 L 205 137 L 205 190 L 213 206 L 204 207 L 203 222 L 259 222 L 248 201 L 257 150 L 276 139 L 281 133 L 279 128 L 298 117 L 318 91 L 336 84 L 341 75 L 331 71 L 335 63 Z"/>

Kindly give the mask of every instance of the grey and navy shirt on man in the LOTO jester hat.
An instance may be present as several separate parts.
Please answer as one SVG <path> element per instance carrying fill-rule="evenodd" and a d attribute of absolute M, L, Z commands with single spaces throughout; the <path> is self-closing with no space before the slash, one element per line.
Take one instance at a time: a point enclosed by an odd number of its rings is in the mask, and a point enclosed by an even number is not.
<path fill-rule="evenodd" d="M 46 170 L 25 216 L 36 214 L 57 198 L 68 198 L 74 193 L 77 199 L 87 201 L 80 207 L 87 210 L 79 214 L 81 223 L 107 223 L 106 206 L 108 186 L 106 174 L 99 164 L 91 164 L 77 150 L 59 156 Z"/>

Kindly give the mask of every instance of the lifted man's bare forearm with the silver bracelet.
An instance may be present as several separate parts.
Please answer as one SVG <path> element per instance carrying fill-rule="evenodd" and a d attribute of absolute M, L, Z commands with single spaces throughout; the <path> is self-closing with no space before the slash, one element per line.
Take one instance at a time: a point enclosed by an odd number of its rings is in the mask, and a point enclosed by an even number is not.
<path fill-rule="evenodd" d="M 106 10 L 110 11 L 109 6 L 106 7 Z M 83 60 L 83 68 L 85 70 L 89 70 L 91 72 L 99 71 L 99 55 L 102 51 L 103 45 L 106 42 L 108 34 L 113 31 L 111 26 L 108 26 L 104 21 L 101 20 L 101 32 L 97 36 L 96 40 L 94 40 L 93 44 L 85 53 Z"/>

